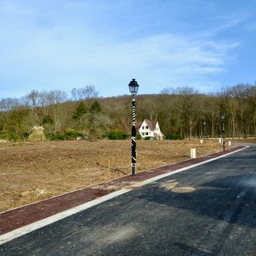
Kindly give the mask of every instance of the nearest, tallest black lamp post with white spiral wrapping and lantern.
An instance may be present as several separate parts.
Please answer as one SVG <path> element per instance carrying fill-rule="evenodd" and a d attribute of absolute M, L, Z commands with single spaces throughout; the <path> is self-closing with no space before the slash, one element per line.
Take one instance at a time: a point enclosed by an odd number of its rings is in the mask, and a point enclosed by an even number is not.
<path fill-rule="evenodd" d="M 129 89 L 130 89 L 131 95 L 133 95 L 133 100 L 132 100 L 132 175 L 135 175 L 135 164 L 136 164 L 135 106 L 136 106 L 136 102 L 135 102 L 134 96 L 137 95 L 139 85 L 134 78 L 132 81 L 130 81 Z"/>

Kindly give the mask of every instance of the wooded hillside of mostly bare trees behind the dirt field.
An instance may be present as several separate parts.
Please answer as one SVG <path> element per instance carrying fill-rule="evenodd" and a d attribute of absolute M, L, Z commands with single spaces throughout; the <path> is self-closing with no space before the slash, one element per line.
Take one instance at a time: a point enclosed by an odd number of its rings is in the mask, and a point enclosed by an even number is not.
<path fill-rule="evenodd" d="M 72 88 L 71 96 L 61 90 L 33 90 L 20 99 L 1 99 L 0 139 L 100 140 L 110 133 L 129 135 L 131 99 L 99 97 L 94 85 Z M 136 104 L 137 121 L 157 120 L 167 138 L 222 137 L 223 124 L 226 137 L 256 137 L 256 83 L 214 94 L 168 87 L 159 94 L 137 95 Z"/>

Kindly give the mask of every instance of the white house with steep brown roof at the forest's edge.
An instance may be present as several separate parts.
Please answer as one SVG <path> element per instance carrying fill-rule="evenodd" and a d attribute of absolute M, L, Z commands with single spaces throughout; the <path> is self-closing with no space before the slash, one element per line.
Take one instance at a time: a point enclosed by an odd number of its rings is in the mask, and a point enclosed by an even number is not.
<path fill-rule="evenodd" d="M 147 119 L 144 119 L 143 123 L 138 124 L 138 132 L 142 138 L 154 137 L 157 140 L 163 140 L 164 137 L 164 134 L 161 133 L 158 122 Z"/>

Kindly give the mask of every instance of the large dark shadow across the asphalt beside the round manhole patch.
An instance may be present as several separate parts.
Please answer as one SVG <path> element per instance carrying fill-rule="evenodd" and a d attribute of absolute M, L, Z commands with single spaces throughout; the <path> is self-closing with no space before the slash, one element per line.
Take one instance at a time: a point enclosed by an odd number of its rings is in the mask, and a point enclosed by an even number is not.
<path fill-rule="evenodd" d="M 154 192 L 146 192 L 140 198 L 216 220 L 256 228 L 256 175 L 217 178 L 187 193 L 165 189 L 161 183 L 152 189 Z"/>

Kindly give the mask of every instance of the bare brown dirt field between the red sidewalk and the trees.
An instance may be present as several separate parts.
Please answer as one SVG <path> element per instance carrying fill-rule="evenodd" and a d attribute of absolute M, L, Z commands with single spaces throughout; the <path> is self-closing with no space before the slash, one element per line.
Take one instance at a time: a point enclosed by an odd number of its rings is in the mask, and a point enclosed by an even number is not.
<path fill-rule="evenodd" d="M 137 141 L 137 171 L 222 150 L 218 140 Z M 0 143 L 0 212 L 130 174 L 130 140 Z"/>

